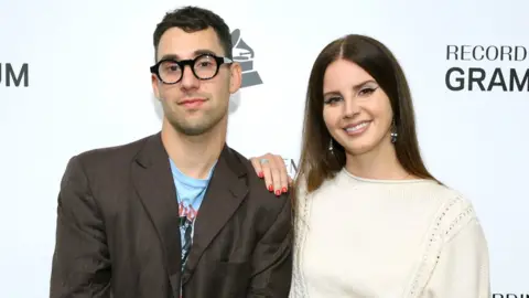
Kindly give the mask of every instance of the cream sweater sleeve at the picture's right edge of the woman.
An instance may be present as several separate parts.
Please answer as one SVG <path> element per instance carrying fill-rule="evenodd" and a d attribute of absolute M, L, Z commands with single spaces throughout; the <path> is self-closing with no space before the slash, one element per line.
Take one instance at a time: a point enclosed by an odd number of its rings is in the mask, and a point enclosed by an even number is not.
<path fill-rule="evenodd" d="M 488 248 L 477 219 L 444 244 L 424 290 L 425 297 L 490 297 Z"/>

